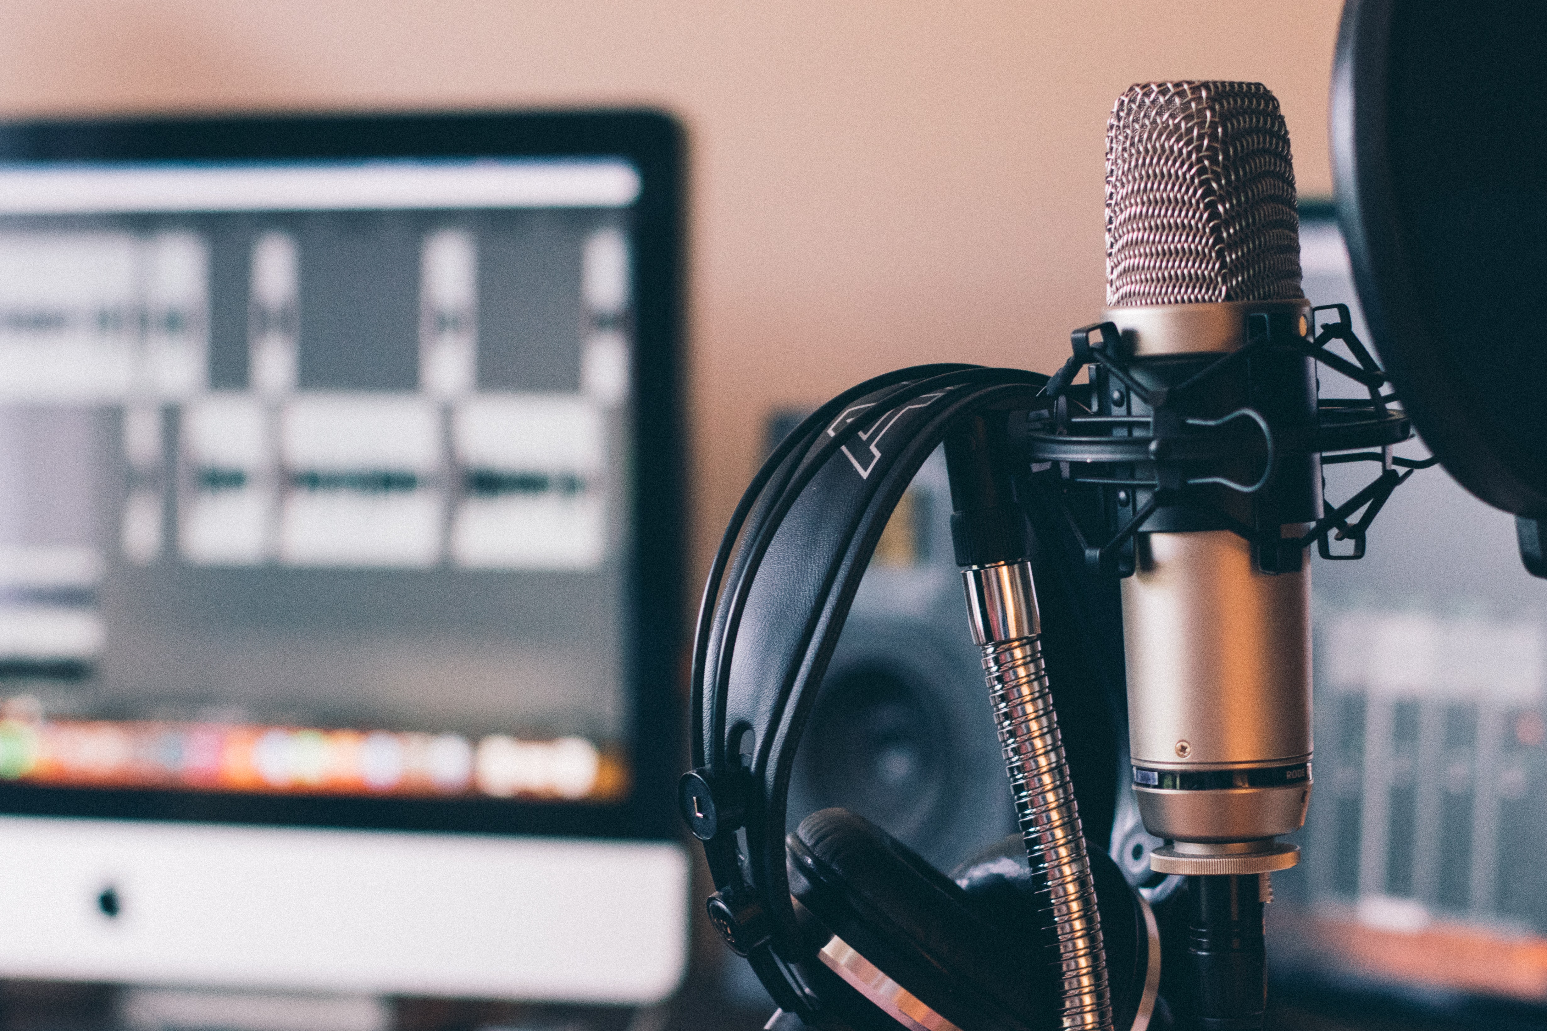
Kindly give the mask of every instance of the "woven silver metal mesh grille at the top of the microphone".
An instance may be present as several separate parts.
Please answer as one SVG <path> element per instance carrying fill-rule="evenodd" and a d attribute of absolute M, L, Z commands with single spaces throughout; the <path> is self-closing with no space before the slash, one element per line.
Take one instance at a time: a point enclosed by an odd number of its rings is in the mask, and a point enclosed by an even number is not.
<path fill-rule="evenodd" d="M 1303 297 L 1289 130 L 1258 82 L 1129 87 L 1106 124 L 1106 303 Z"/>

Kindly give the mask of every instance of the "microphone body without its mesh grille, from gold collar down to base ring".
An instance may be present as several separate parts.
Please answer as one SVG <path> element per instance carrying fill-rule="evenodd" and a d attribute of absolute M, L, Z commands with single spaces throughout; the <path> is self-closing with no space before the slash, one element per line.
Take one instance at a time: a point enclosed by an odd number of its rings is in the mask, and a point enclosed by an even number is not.
<path fill-rule="evenodd" d="M 1199 363 L 1245 346 L 1253 317 L 1298 328 L 1307 315 L 1304 300 L 1103 312 L 1146 386 L 1176 385 Z M 1309 363 L 1248 363 L 1211 382 L 1185 413 L 1219 419 L 1255 405 L 1278 422 L 1313 422 Z M 1137 399 L 1125 410 L 1148 414 Z M 1262 462 L 1244 454 L 1230 476 L 1250 482 Z M 1270 513 L 1295 536 L 1321 515 L 1320 464 L 1313 454 L 1282 459 L 1275 473 L 1269 496 L 1256 501 L 1224 485 L 1204 488 L 1242 521 Z M 1149 833 L 1173 842 L 1153 863 L 1168 873 L 1286 869 L 1295 853 L 1273 838 L 1304 824 L 1310 791 L 1310 570 L 1301 563 L 1262 572 L 1245 538 L 1207 529 L 1187 509 L 1162 509 L 1149 526 L 1168 532 L 1137 536 L 1122 598 L 1134 791 Z"/>

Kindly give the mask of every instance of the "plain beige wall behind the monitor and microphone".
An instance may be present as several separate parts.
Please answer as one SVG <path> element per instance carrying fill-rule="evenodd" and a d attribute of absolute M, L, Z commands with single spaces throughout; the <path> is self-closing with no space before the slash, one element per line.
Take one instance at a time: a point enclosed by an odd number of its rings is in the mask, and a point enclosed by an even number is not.
<path fill-rule="evenodd" d="M 1134 80 L 1265 82 L 1327 193 L 1340 3 L 0 0 L 0 114 L 657 104 L 693 139 L 698 555 L 772 405 L 1049 369 L 1101 300 Z"/>

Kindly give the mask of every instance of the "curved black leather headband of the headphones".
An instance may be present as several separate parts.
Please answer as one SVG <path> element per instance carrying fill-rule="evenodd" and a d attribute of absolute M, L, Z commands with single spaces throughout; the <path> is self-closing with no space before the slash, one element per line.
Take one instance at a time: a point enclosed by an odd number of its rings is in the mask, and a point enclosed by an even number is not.
<path fill-rule="evenodd" d="M 780 958 L 800 955 L 786 793 L 854 592 L 930 453 L 985 411 L 1040 407 L 1043 383 L 1035 373 L 961 365 L 862 383 L 786 437 L 726 530 L 695 641 L 696 770 L 681 801 L 705 842 L 716 924 L 760 974 L 789 986 L 789 999 L 775 999 L 786 1009 L 806 1008 L 800 978 Z"/>

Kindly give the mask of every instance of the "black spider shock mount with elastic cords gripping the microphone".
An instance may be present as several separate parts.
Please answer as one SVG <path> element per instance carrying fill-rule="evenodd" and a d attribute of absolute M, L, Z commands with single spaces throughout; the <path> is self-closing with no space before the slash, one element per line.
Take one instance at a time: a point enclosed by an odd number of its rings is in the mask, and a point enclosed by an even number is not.
<path fill-rule="evenodd" d="M 1316 326 L 1321 312 L 1335 312 L 1337 320 Z M 1392 445 L 1412 436 L 1412 425 L 1391 405 L 1395 396 L 1381 393 L 1389 380 L 1354 332 L 1347 306 L 1312 308 L 1309 328 L 1315 334 L 1306 334 L 1304 326 L 1298 318 L 1253 314 L 1247 320 L 1245 345 L 1213 359 L 1194 356 L 1197 368 L 1187 368 L 1174 383 L 1146 382 L 1143 360 L 1118 354 L 1122 334 L 1111 322 L 1081 326 L 1071 334 L 1072 354 L 1043 391 L 1050 403 L 1046 411 L 1029 414 L 1018 444 L 1033 473 L 1057 475 L 1060 490 L 1054 493 L 1092 572 L 1129 575 L 1135 535 L 1176 529 L 1156 527 L 1157 513 L 1163 510 L 1170 510 L 1173 522 L 1191 519 L 1187 529 L 1222 529 L 1245 538 L 1258 567 L 1269 573 L 1299 569 L 1301 553 L 1312 543 L 1323 558 L 1364 555 L 1366 532 L 1391 493 L 1412 470 L 1433 465 L 1436 459 L 1391 454 Z M 1352 360 L 1329 349 L 1337 342 L 1347 348 Z M 1368 397 L 1318 399 L 1307 419 L 1273 417 L 1253 403 L 1214 417 L 1188 414 L 1208 397 L 1200 388 L 1207 385 L 1211 394 L 1219 394 L 1225 383 L 1233 383 L 1239 390 L 1242 382 L 1250 382 L 1252 363 L 1267 356 L 1313 359 L 1364 386 Z M 1091 369 L 1089 385 L 1074 383 L 1081 368 Z M 1148 411 L 1118 414 L 1109 403 L 1123 399 L 1123 407 L 1131 408 L 1128 397 Z M 1306 516 L 1290 512 L 1293 505 L 1272 498 L 1269 488 L 1284 461 L 1304 462 L 1307 456 L 1321 456 L 1326 465 L 1378 461 L 1381 473 L 1329 512 L 1315 505 Z M 1253 482 L 1225 475 L 1225 467 L 1236 464 L 1239 468 L 1244 461 L 1250 461 L 1253 470 L 1261 468 Z M 1094 513 L 1089 499 L 1071 502 L 1071 490 L 1081 487 L 1100 492 Z M 1238 501 L 1225 501 L 1219 490 L 1204 490 L 1207 487 L 1225 488 Z M 1145 496 L 1142 502 L 1140 496 Z M 1252 501 L 1242 504 L 1242 499 Z M 1179 512 L 1187 515 L 1177 516 Z M 1310 529 L 1299 536 L 1281 536 L 1279 527 L 1290 522 L 1309 522 Z M 1091 536 L 1105 541 L 1091 544 Z M 1332 539 L 1351 541 L 1352 550 L 1334 552 Z"/>

